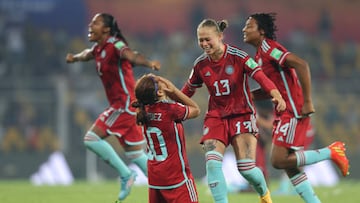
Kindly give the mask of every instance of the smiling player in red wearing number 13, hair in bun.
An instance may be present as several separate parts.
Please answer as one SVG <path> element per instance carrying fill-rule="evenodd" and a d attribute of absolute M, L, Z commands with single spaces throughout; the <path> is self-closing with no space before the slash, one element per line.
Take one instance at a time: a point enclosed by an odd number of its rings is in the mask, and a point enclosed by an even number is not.
<path fill-rule="evenodd" d="M 198 43 L 204 53 L 195 60 L 182 91 L 191 97 L 196 88 L 205 84 L 209 92 L 201 144 L 206 152 L 207 181 L 215 202 L 228 202 L 222 159 L 230 144 L 240 174 L 258 192 L 261 202 L 271 202 L 264 175 L 255 165 L 258 130 L 248 77 L 254 78 L 272 95 L 278 111 L 285 109 L 285 101 L 247 53 L 223 42 L 223 30 L 227 25 L 226 21 L 213 19 L 199 24 Z"/>

